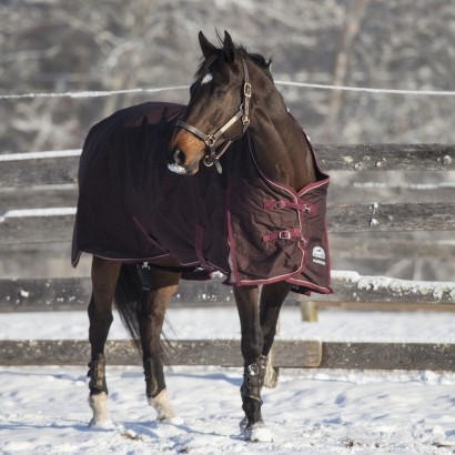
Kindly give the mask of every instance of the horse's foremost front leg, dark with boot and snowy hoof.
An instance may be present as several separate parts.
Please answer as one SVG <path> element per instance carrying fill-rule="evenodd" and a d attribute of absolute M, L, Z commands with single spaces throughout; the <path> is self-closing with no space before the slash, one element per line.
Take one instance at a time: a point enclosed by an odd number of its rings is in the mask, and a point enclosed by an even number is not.
<path fill-rule="evenodd" d="M 266 357 L 262 355 L 263 334 L 260 324 L 257 286 L 234 287 L 234 296 L 240 316 L 244 361 L 240 393 L 245 417 L 240 427 L 246 441 L 272 442 L 272 434 L 261 414 L 261 390 L 264 385 Z"/>

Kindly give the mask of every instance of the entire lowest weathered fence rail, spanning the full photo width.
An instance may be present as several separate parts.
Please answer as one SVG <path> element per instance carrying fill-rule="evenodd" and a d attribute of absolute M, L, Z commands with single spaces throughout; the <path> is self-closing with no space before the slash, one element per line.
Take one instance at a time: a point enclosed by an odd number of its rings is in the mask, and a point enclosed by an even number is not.
<path fill-rule="evenodd" d="M 282 368 L 437 370 L 455 371 L 455 344 L 321 342 L 276 340 L 274 365 Z M 243 365 L 239 340 L 170 342 L 171 365 Z M 90 356 L 83 340 L 2 340 L 0 365 L 81 365 Z M 141 365 L 131 341 L 108 341 L 110 365 Z"/>

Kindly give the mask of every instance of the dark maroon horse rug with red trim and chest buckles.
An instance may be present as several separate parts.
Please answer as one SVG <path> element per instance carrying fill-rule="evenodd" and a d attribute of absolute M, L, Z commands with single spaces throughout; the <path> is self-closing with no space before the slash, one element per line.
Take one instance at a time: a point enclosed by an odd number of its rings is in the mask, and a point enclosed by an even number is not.
<path fill-rule="evenodd" d="M 175 259 L 208 276 L 220 271 L 230 284 L 285 280 L 296 292 L 330 293 L 328 176 L 317 160 L 317 181 L 295 192 L 261 172 L 246 132 L 221 159 L 221 175 L 203 165 L 192 176 L 175 174 L 166 146 L 184 108 L 134 105 L 91 129 L 80 160 L 72 264 L 81 252 L 151 264 Z"/>

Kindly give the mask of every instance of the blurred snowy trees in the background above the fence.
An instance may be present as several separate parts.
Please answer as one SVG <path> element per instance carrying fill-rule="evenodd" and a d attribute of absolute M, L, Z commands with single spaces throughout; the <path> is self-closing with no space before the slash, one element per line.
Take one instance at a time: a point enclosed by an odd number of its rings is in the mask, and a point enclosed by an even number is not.
<path fill-rule="evenodd" d="M 0 1 L 0 94 L 188 84 L 198 32 L 215 28 L 274 59 L 276 80 L 454 90 L 447 0 Z M 453 97 L 281 87 L 315 142 L 454 142 Z M 0 100 L 0 152 L 78 148 L 125 105 L 188 92 Z"/>

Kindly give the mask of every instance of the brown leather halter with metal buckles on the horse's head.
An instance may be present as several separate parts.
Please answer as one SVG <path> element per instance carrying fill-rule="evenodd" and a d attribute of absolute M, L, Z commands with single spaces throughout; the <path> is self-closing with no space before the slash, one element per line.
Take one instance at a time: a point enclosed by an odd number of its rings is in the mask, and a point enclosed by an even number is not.
<path fill-rule="evenodd" d="M 233 115 L 226 123 L 223 124 L 223 127 L 215 130 L 215 132 L 212 134 L 205 134 L 198 128 L 192 127 L 191 124 L 184 122 L 181 119 L 179 119 L 175 123 L 175 127 L 184 128 L 185 130 L 190 131 L 191 133 L 193 133 L 194 135 L 196 135 L 198 138 L 204 141 L 205 145 L 209 146 L 210 152 L 209 154 L 204 156 L 203 162 L 208 168 L 215 164 L 215 168 L 220 174 L 222 172 L 222 168 L 220 164 L 220 158 L 224 154 L 224 152 L 228 150 L 231 143 L 235 141 L 235 139 L 239 139 L 240 136 L 243 135 L 243 133 L 246 131 L 246 129 L 250 125 L 250 100 L 251 100 L 251 94 L 252 94 L 252 87 L 250 83 L 250 75 L 249 75 L 246 63 L 243 59 L 242 59 L 242 62 L 243 62 L 243 73 L 244 73 L 243 75 L 243 103 L 240 104 L 239 111 L 236 112 L 235 115 Z M 216 148 L 215 148 L 216 141 L 237 120 L 242 120 L 242 124 L 243 124 L 242 133 L 234 139 L 229 139 L 228 143 L 223 146 L 223 149 L 216 153 Z"/>

